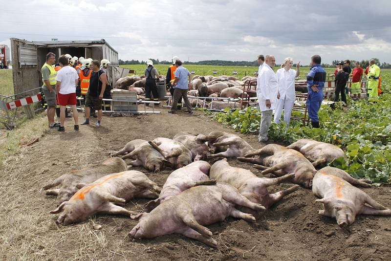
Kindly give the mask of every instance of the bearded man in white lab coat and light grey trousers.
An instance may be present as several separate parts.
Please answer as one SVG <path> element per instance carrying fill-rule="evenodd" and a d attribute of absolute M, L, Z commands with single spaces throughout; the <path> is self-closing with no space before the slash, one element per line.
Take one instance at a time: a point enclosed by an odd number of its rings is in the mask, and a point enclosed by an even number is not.
<path fill-rule="evenodd" d="M 273 55 L 266 55 L 265 63 L 257 79 L 257 97 L 261 109 L 261 128 L 259 141 L 271 143 L 273 140 L 267 136 L 272 122 L 273 109 L 276 109 L 278 79 L 273 67 L 276 65 L 276 58 Z"/>

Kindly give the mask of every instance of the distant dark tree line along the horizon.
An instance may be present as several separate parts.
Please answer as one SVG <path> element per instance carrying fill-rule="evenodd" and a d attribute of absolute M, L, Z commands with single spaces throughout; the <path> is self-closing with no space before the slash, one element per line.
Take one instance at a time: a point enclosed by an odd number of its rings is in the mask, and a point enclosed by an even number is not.
<path fill-rule="evenodd" d="M 376 62 L 376 65 L 379 65 L 380 68 L 391 68 L 391 64 L 389 63 L 380 63 L 378 58 L 373 58 Z M 171 65 L 171 61 L 159 61 L 159 59 L 150 59 L 152 60 L 154 65 Z M 119 59 L 119 65 L 145 65 L 147 61 L 139 61 L 139 60 L 126 60 L 123 61 Z M 342 61 L 340 60 L 334 60 L 330 64 L 322 64 L 323 67 L 329 68 L 329 67 L 335 67 L 338 63 Z M 183 61 L 184 64 L 188 65 L 223 65 L 223 66 L 258 66 L 257 61 L 223 61 L 223 60 L 208 60 L 208 61 L 199 61 L 199 62 L 186 62 Z M 356 61 L 350 60 L 350 67 L 355 66 Z M 296 65 L 293 65 L 296 66 Z M 309 67 L 309 65 L 302 65 L 303 67 Z M 369 60 L 361 60 L 360 61 L 360 67 L 366 68 L 369 66 Z"/>

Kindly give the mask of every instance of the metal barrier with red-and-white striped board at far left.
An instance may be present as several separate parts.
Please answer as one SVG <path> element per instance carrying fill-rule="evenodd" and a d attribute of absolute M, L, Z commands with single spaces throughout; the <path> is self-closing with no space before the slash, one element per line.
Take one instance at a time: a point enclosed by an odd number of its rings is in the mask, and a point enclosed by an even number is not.
<path fill-rule="evenodd" d="M 25 114 L 23 115 L 23 117 L 34 117 L 35 111 L 39 110 L 39 108 L 34 109 L 33 105 L 34 103 L 40 102 L 41 98 L 29 99 L 28 101 L 26 101 L 26 99 L 23 99 L 22 102 L 19 100 L 23 97 L 30 96 L 31 94 L 39 93 L 40 89 L 41 87 L 38 87 L 9 96 L 0 94 L 0 119 L 2 119 L 3 121 L 5 120 L 5 122 L 3 122 L 5 128 L 7 128 L 8 130 L 14 129 L 19 108 L 23 107 L 25 109 Z M 16 105 L 15 103 L 18 104 Z"/>

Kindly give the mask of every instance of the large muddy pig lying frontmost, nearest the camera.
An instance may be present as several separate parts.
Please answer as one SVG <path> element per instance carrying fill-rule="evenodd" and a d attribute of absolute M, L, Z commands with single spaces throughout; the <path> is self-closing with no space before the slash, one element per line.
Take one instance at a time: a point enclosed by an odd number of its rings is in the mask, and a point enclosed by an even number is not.
<path fill-rule="evenodd" d="M 129 237 L 152 239 L 179 233 L 216 247 L 217 242 L 205 225 L 223 221 L 229 216 L 255 222 L 252 215 L 240 212 L 236 205 L 256 211 L 265 210 L 262 205 L 251 202 L 236 188 L 225 183 L 193 187 L 165 200 L 150 213 L 130 216 L 139 222 L 130 231 Z"/>

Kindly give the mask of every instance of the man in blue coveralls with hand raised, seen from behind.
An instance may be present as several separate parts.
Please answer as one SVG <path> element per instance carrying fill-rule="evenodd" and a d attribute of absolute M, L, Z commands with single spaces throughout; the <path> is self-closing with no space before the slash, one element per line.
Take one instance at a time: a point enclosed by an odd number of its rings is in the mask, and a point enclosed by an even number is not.
<path fill-rule="evenodd" d="M 306 104 L 312 128 L 319 128 L 318 111 L 321 108 L 324 97 L 322 89 L 326 82 L 326 71 L 321 66 L 321 61 L 322 59 L 319 55 L 312 56 L 312 67 L 307 74 L 308 98 Z"/>

